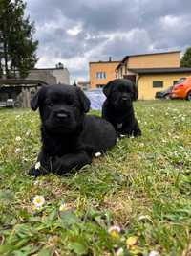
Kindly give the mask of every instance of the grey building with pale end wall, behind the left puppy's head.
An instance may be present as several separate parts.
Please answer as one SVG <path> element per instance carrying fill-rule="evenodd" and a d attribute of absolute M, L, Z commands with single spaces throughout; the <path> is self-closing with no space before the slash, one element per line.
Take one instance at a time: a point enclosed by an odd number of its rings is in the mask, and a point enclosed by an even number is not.
<path fill-rule="evenodd" d="M 55 68 L 32 69 L 26 79 L 45 81 L 48 84 L 70 84 L 69 71 L 67 68 L 64 68 L 63 65 L 56 65 Z"/>

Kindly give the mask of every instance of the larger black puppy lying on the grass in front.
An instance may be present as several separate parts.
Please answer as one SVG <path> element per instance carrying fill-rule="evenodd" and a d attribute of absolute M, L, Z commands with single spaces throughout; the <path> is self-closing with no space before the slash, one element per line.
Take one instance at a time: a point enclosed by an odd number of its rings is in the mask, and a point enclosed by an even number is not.
<path fill-rule="evenodd" d="M 90 101 L 83 91 L 65 84 L 42 87 L 32 98 L 32 110 L 39 107 L 42 149 L 30 174 L 63 175 L 92 162 L 93 155 L 116 144 L 113 126 L 96 116 L 86 116 Z"/>

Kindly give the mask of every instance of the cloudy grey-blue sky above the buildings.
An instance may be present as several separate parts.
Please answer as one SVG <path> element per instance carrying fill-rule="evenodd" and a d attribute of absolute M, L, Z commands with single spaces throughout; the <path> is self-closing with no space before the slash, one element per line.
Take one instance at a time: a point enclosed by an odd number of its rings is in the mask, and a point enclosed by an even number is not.
<path fill-rule="evenodd" d="M 62 62 L 87 81 L 89 61 L 191 45 L 191 0 L 27 0 L 39 41 L 37 67 Z"/>

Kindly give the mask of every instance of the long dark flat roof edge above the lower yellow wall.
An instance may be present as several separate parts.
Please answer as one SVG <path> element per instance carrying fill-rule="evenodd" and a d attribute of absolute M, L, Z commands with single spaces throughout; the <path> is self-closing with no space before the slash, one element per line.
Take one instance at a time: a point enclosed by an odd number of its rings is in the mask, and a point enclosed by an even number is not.
<path fill-rule="evenodd" d="M 176 68 L 131 68 L 129 71 L 138 74 L 168 74 L 168 73 L 191 73 L 190 67 L 176 67 Z"/>

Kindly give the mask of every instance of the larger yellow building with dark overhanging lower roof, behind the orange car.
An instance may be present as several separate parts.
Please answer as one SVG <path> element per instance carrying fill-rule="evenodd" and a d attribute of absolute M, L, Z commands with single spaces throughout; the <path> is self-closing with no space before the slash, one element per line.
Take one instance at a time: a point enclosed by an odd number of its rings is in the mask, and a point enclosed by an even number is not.
<path fill-rule="evenodd" d="M 173 51 L 126 56 L 117 65 L 116 73 L 117 78 L 136 82 L 139 100 L 153 100 L 157 91 L 191 76 L 191 69 L 180 68 L 180 51 Z"/>

